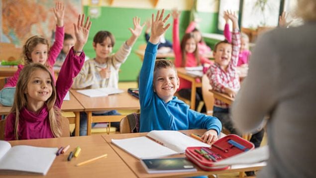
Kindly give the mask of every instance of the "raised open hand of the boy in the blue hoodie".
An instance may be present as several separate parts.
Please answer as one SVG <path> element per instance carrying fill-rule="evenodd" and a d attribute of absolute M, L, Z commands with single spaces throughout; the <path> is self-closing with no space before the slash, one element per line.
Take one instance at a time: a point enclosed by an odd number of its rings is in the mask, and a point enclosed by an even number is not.
<path fill-rule="evenodd" d="M 151 15 L 151 36 L 149 41 L 152 44 L 157 44 L 159 42 L 160 36 L 164 34 L 167 29 L 170 27 L 170 23 L 165 26 L 170 14 L 168 14 L 164 19 L 165 9 L 162 9 L 161 14 L 160 11 L 157 11 L 156 19 L 154 18 L 154 14 Z"/>

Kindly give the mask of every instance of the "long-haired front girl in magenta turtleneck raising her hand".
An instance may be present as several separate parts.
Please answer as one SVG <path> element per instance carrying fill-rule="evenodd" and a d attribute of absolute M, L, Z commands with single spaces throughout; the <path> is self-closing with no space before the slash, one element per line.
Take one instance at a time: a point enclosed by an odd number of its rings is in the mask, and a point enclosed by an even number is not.
<path fill-rule="evenodd" d="M 56 81 L 41 63 L 26 65 L 17 81 L 14 103 L 6 116 L 5 140 L 61 137 L 60 108 L 85 61 L 82 49 L 89 36 L 89 17 L 79 15 L 74 24 L 77 41 L 70 49 Z M 71 70 L 69 70 L 71 69 Z"/>

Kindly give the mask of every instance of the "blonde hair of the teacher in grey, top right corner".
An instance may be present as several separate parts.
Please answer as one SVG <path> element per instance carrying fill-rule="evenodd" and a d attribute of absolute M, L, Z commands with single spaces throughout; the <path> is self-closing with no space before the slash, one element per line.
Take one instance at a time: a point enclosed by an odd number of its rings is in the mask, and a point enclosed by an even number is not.
<path fill-rule="evenodd" d="M 316 1 L 315 0 L 298 0 L 296 14 L 305 21 L 316 20 Z"/>

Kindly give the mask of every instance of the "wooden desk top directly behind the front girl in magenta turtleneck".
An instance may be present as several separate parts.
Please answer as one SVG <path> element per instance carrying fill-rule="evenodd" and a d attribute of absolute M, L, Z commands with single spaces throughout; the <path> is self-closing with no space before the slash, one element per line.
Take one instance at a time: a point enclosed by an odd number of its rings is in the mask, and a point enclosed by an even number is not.
<path fill-rule="evenodd" d="M 76 99 L 76 97 L 69 92 L 70 100 L 63 101 L 61 106 L 62 111 L 84 111 L 84 107 L 80 104 L 80 102 Z M 10 110 L 11 106 L 3 106 L 0 104 L 0 115 L 7 115 Z"/>

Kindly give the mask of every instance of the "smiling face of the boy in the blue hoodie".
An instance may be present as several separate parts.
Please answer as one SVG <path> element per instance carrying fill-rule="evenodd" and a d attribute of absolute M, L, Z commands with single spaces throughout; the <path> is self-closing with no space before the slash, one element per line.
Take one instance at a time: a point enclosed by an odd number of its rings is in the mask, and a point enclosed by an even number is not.
<path fill-rule="evenodd" d="M 168 102 L 179 89 L 180 81 L 175 69 L 171 67 L 160 68 L 154 72 L 153 85 L 157 95 Z"/>

